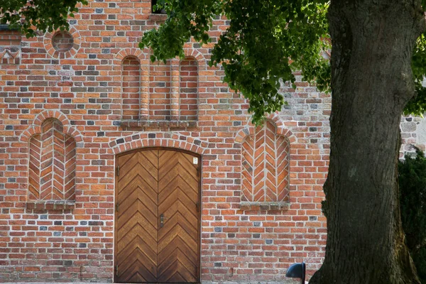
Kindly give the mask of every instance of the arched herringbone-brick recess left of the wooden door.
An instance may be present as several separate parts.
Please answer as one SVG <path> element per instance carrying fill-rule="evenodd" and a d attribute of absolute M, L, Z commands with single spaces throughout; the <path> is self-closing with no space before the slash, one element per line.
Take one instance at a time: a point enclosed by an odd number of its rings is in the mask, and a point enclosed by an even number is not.
<path fill-rule="evenodd" d="M 28 201 L 75 200 L 75 138 L 58 119 L 43 121 L 29 140 Z"/>

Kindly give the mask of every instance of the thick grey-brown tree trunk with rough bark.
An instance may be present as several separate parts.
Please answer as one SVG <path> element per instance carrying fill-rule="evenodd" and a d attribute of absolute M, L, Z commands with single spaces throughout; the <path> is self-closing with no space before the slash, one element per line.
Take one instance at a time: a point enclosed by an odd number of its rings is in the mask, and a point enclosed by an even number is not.
<path fill-rule="evenodd" d="M 397 160 L 417 0 L 332 0 L 332 116 L 324 185 L 327 248 L 310 284 L 420 283 L 400 222 Z"/>

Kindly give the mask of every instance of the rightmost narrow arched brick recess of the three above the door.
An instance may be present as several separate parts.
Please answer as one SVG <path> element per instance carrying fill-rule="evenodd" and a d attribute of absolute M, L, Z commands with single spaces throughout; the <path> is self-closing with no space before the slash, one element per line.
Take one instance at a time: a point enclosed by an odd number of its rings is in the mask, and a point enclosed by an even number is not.
<path fill-rule="evenodd" d="M 198 62 L 192 56 L 180 60 L 179 119 L 198 119 Z"/>

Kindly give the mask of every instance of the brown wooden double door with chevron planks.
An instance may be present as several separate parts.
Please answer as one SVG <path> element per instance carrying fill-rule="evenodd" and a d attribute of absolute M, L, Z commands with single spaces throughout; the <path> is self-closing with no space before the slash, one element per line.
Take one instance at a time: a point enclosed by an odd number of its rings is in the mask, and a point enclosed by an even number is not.
<path fill-rule="evenodd" d="M 115 281 L 200 282 L 200 157 L 148 148 L 116 165 Z"/>

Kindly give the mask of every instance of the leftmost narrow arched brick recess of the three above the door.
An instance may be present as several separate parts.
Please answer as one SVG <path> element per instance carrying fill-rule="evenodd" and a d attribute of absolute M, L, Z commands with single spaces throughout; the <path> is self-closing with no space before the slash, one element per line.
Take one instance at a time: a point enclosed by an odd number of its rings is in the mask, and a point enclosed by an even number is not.
<path fill-rule="evenodd" d="M 138 120 L 141 109 L 141 62 L 135 56 L 121 61 L 121 109 L 123 120 Z"/>

